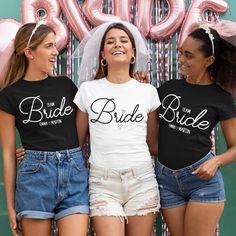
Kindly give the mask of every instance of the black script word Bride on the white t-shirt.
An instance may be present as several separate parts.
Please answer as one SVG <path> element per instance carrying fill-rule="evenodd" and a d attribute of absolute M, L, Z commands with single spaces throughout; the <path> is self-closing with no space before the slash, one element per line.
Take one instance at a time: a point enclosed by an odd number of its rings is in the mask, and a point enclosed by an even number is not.
<path fill-rule="evenodd" d="M 91 104 L 91 111 L 97 115 L 95 119 L 91 119 L 92 123 L 109 124 L 114 121 L 116 123 L 141 122 L 144 119 L 143 114 L 138 113 L 139 104 L 136 104 L 131 113 L 116 112 L 116 103 L 114 98 L 99 98 Z"/>

